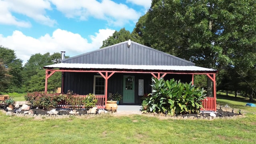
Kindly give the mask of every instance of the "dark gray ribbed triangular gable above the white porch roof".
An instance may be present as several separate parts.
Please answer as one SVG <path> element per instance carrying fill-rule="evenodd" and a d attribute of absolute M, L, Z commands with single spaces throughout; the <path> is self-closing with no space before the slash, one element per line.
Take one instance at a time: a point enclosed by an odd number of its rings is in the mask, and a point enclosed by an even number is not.
<path fill-rule="evenodd" d="M 132 42 L 128 48 L 126 42 L 88 52 L 62 61 L 80 64 L 124 64 L 124 65 L 160 65 L 193 66 L 192 62 L 159 50 Z"/>

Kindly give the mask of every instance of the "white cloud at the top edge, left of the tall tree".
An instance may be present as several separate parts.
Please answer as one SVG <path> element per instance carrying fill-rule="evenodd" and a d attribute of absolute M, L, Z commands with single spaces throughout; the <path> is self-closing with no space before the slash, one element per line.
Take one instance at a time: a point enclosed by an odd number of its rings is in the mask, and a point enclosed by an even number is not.
<path fill-rule="evenodd" d="M 111 0 L 50 0 L 60 12 L 68 18 L 87 20 L 90 16 L 107 20 L 110 25 L 124 26 L 129 22 L 135 23 L 141 16 L 136 10 L 125 4 L 117 4 Z"/>

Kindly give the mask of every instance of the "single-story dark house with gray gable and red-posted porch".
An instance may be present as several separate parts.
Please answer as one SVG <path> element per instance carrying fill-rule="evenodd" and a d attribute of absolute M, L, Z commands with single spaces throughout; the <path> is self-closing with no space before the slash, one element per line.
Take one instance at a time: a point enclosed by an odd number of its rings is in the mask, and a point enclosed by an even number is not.
<path fill-rule="evenodd" d="M 107 98 L 116 92 L 123 96 L 120 104 L 141 104 L 142 97 L 152 90 L 152 76 L 189 83 L 195 74 L 206 74 L 213 81 L 214 97 L 204 101 L 204 108 L 216 111 L 217 70 L 195 66 L 193 62 L 130 40 L 61 62 L 44 66 L 45 92 L 48 78 L 54 72 L 62 72 L 62 93 L 68 90 L 80 95 L 93 93 L 98 108 L 104 108 Z"/>

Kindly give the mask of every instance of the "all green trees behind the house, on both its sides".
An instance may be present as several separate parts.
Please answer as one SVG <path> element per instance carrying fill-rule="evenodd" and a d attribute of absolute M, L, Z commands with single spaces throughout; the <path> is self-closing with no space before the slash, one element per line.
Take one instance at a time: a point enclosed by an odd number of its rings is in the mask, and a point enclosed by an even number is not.
<path fill-rule="evenodd" d="M 128 39 L 217 69 L 218 90 L 239 91 L 250 100 L 255 97 L 255 0 L 152 0 L 132 32 L 115 31 L 101 48 Z M 13 50 L 3 46 L 0 50 L 0 92 L 44 90 L 42 67 L 60 60 L 60 53 L 34 54 L 22 66 Z M 49 90 L 60 86 L 59 77 L 57 73 L 49 78 Z M 207 79 L 196 76 L 195 84 L 210 88 Z"/>

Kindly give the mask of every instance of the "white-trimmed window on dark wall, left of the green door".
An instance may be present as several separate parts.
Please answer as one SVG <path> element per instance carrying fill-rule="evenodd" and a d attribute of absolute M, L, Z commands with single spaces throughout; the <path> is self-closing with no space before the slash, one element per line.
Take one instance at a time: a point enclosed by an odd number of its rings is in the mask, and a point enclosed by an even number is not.
<path fill-rule="evenodd" d="M 94 76 L 93 93 L 95 95 L 105 94 L 105 78 L 102 76 Z"/>

